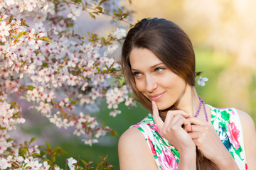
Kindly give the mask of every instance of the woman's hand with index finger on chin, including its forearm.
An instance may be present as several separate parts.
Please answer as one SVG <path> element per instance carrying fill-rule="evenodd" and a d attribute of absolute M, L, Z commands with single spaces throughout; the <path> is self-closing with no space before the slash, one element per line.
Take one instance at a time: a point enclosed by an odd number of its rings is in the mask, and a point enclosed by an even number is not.
<path fill-rule="evenodd" d="M 156 103 L 152 101 L 153 119 L 161 135 L 174 145 L 180 154 L 178 169 L 196 169 L 196 145 L 188 135 L 191 123 L 186 119 L 188 113 L 184 111 L 168 111 L 163 121 L 159 116 Z"/>

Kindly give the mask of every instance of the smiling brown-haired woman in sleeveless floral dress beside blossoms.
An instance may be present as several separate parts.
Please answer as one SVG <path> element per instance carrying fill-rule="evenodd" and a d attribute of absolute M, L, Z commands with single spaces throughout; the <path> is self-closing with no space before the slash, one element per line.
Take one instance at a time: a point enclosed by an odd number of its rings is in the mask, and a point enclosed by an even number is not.
<path fill-rule="evenodd" d="M 151 114 L 120 137 L 120 169 L 255 169 L 252 118 L 203 103 L 194 87 L 193 46 L 175 23 L 137 23 L 124 41 L 122 67 Z"/>

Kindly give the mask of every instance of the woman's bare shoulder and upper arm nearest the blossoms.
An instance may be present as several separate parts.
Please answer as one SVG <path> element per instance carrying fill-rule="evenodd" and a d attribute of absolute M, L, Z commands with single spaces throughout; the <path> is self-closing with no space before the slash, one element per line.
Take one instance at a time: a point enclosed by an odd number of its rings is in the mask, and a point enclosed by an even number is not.
<path fill-rule="evenodd" d="M 146 140 L 137 128 L 126 130 L 118 142 L 119 165 L 125 169 L 157 169 Z"/>

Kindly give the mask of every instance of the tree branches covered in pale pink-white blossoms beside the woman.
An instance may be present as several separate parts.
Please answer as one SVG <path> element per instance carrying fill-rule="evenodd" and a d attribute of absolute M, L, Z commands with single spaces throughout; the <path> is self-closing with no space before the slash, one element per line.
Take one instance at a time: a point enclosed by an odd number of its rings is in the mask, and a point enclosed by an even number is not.
<path fill-rule="evenodd" d="M 116 29 L 102 38 L 76 34 L 75 20 L 82 12 L 95 20 L 111 18 Z M 10 130 L 26 122 L 19 98 L 31 101 L 30 108 L 58 128 L 73 127 L 87 145 L 107 132 L 115 135 L 80 111 L 102 98 L 113 116 L 120 113 L 119 103 L 134 105 L 120 64 L 111 57 L 126 35 L 124 26 L 130 26 L 127 16 L 119 0 L 0 0 L 0 169 L 60 169 L 54 162 L 62 149 L 38 148 L 31 145 L 34 138 L 24 144 L 9 138 Z M 105 158 L 102 162 L 96 169 L 111 169 Z M 90 169 L 90 163 L 82 163 L 85 168 L 68 159 L 70 169 Z"/>

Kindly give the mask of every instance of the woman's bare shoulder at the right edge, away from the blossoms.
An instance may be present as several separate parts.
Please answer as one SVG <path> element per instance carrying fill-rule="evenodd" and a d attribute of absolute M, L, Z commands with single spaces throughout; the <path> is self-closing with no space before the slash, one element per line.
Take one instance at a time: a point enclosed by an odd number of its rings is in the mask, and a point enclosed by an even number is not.
<path fill-rule="evenodd" d="M 255 169 L 256 167 L 256 130 L 255 123 L 250 115 L 238 110 L 238 115 L 242 125 L 242 132 L 245 142 L 245 155 L 247 159 L 248 169 Z"/>

